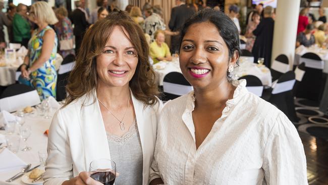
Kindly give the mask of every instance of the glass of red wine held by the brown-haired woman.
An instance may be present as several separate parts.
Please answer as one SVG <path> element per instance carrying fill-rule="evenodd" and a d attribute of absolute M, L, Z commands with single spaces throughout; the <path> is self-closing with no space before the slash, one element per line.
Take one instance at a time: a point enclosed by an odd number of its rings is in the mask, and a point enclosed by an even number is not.
<path fill-rule="evenodd" d="M 116 164 L 110 159 L 97 159 L 90 163 L 89 175 L 104 185 L 113 185 L 116 177 Z"/>

